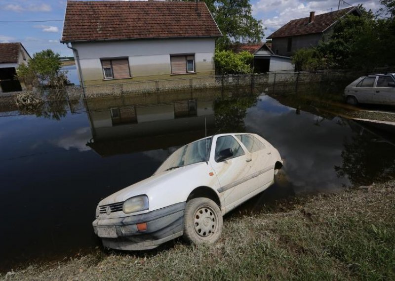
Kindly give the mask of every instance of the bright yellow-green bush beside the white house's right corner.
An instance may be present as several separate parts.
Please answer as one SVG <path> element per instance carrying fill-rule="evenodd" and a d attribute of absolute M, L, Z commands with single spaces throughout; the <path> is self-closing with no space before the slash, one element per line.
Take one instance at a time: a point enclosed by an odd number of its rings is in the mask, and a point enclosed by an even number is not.
<path fill-rule="evenodd" d="M 234 53 L 230 50 L 216 50 L 214 61 L 218 74 L 252 73 L 251 67 L 254 56 L 247 51 Z"/>

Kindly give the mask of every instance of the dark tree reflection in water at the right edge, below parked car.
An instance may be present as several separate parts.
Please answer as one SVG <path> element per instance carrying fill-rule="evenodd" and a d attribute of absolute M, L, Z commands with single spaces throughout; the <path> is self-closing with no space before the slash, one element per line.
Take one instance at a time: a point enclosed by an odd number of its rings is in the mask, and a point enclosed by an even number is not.
<path fill-rule="evenodd" d="M 347 176 L 352 185 L 371 185 L 395 176 L 395 147 L 355 129 L 351 140 L 344 141 L 342 165 L 335 166 L 338 177 Z"/>

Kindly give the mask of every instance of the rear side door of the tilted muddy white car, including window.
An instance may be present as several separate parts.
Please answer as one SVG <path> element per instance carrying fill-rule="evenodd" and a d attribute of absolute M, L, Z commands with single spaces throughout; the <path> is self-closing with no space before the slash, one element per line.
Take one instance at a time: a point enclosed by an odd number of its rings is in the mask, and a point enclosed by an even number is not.
<path fill-rule="evenodd" d="M 250 134 L 236 135 L 236 138 L 241 141 L 246 150 L 250 153 L 250 166 L 253 172 L 253 178 L 250 180 L 251 185 L 258 189 L 267 183 L 273 181 L 274 164 L 272 159 L 272 152 L 265 144 Z"/>

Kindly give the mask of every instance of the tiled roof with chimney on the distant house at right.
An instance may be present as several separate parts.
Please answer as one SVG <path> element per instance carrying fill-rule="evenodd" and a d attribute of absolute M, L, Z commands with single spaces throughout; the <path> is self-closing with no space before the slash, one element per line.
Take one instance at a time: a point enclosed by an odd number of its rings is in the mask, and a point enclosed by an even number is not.
<path fill-rule="evenodd" d="M 325 29 L 327 29 L 330 25 L 332 25 L 336 20 L 341 18 L 342 16 L 350 13 L 352 10 L 357 9 L 356 7 L 346 8 L 338 11 L 333 11 L 325 14 L 320 14 L 314 16 L 313 22 L 309 23 L 309 17 L 298 18 L 291 20 L 286 25 L 282 26 L 276 32 L 268 37 L 277 38 L 277 37 L 288 37 L 288 36 L 296 36 L 296 35 L 305 35 L 305 34 L 313 34 L 313 33 L 321 33 Z"/>

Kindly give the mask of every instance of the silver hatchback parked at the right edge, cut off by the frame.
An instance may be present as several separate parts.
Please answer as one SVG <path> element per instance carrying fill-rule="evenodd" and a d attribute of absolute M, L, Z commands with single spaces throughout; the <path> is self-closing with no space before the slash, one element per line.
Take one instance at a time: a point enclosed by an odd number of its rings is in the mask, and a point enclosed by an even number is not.
<path fill-rule="evenodd" d="M 395 105 L 395 73 L 362 76 L 344 89 L 346 102 Z"/>

